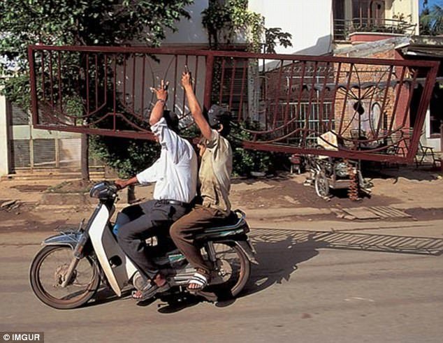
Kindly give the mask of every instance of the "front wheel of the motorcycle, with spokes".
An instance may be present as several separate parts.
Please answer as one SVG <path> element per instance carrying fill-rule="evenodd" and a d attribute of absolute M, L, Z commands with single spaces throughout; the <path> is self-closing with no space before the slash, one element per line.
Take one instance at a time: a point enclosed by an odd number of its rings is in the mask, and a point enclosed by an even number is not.
<path fill-rule="evenodd" d="M 31 263 L 31 287 L 37 298 L 56 309 L 73 309 L 85 304 L 99 288 L 100 276 L 96 262 L 81 258 L 66 287 L 64 282 L 73 250 L 66 245 L 43 247 Z"/>

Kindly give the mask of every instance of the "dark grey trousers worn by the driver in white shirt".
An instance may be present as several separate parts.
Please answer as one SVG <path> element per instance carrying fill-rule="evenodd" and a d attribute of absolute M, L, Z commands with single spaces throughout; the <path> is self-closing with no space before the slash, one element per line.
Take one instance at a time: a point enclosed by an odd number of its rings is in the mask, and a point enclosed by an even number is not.
<path fill-rule="evenodd" d="M 138 270 L 153 279 L 159 270 L 147 255 L 145 239 L 154 235 L 154 229 L 168 230 L 170 224 L 187 212 L 187 207 L 161 203 L 157 200 L 134 206 L 135 208 L 129 212 L 139 212 L 140 216 L 119 228 L 117 241 Z"/>

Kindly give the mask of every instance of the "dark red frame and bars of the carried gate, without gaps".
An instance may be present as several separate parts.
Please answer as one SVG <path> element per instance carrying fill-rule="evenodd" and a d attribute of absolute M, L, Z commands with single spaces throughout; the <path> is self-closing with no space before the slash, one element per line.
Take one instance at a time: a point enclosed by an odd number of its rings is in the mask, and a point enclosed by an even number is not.
<path fill-rule="evenodd" d="M 351 82 L 351 68 L 356 65 L 365 65 L 370 64 L 372 66 L 389 66 L 389 70 L 391 73 L 394 73 L 395 68 L 398 68 L 402 70 L 399 84 L 399 89 L 396 91 L 398 96 L 400 94 L 400 87 L 402 87 L 403 83 L 405 83 L 405 70 L 407 68 L 415 68 L 416 74 L 418 71 L 422 73 L 422 76 L 426 78 L 426 82 L 423 87 L 423 93 L 421 95 L 421 101 L 419 103 L 419 107 L 416 113 L 416 122 L 414 131 L 412 133 L 412 137 L 409 138 L 409 147 L 407 149 L 406 156 L 399 156 L 399 155 L 388 155 L 388 154 L 378 154 L 376 153 L 368 153 L 361 150 L 353 150 L 353 149 L 338 149 L 338 150 L 319 150 L 314 149 L 312 147 L 300 147 L 295 145 L 288 145 L 288 144 L 279 144 L 279 143 L 263 143 L 260 142 L 257 139 L 257 134 L 253 131 L 253 139 L 250 141 L 243 142 L 243 145 L 249 149 L 260 149 L 260 150 L 268 150 L 268 151 L 274 151 L 274 152 L 286 152 L 286 153 L 298 153 L 298 154 L 323 154 L 328 156 L 336 156 L 336 157 L 342 157 L 342 158 L 349 158 L 349 159 L 361 159 L 361 160 L 372 160 L 372 161 L 391 161 L 391 162 L 400 162 L 400 163 L 410 163 L 413 161 L 414 156 L 416 154 L 416 149 L 418 147 L 420 135 L 421 135 L 421 129 L 423 128 L 423 123 L 426 116 L 426 110 L 428 108 L 428 104 L 430 101 L 430 96 L 433 91 L 433 85 L 435 84 L 435 78 L 437 76 L 437 70 L 438 70 L 438 62 L 436 61 L 412 61 L 412 60 L 392 60 L 392 59 L 363 59 L 363 58 L 351 58 L 351 57 L 331 57 L 331 56 L 305 56 L 305 55 L 292 55 L 292 54 L 253 54 L 249 52 L 233 52 L 233 51 L 211 51 L 211 50 L 186 50 L 186 49 L 172 49 L 172 48 L 136 48 L 136 47 L 102 47 L 102 46 L 48 46 L 48 45 L 29 45 L 28 47 L 28 58 L 29 58 L 29 64 L 30 64 L 30 82 L 31 82 L 31 111 L 34 119 L 34 127 L 36 129 L 50 129 L 50 130 L 60 130 L 60 131 L 73 131 L 73 132 L 81 132 L 81 133 L 89 133 L 89 134 L 106 134 L 110 136 L 120 136 L 120 137 L 126 137 L 126 138 L 143 138 L 143 139 L 152 139 L 152 133 L 150 133 L 149 130 L 141 130 L 141 131 L 119 131 L 118 129 L 114 128 L 113 131 L 103 131 L 103 129 L 96 129 L 93 127 L 84 127 L 84 126 L 55 126 L 54 124 L 45 124 L 41 122 L 38 113 L 39 113 L 39 101 L 41 99 L 38 98 L 38 89 L 37 89 L 37 76 L 36 75 L 36 52 L 41 52 L 42 54 L 42 66 L 44 64 L 43 60 L 43 53 L 44 52 L 82 52 L 85 54 L 161 54 L 161 55 L 172 55 L 175 56 L 177 59 L 177 56 L 185 56 L 186 60 L 188 57 L 196 57 L 196 66 L 198 64 L 198 57 L 204 57 L 205 58 L 205 80 L 204 80 L 204 96 L 203 96 L 203 106 L 205 108 L 209 108 L 211 105 L 211 94 L 213 91 L 213 75 L 214 75 L 214 67 L 215 67 L 215 60 L 216 59 L 222 59 L 223 60 L 223 66 L 224 61 L 229 60 L 233 61 L 233 72 L 235 72 L 235 61 L 236 60 L 247 60 L 249 59 L 273 59 L 275 61 L 280 62 L 279 67 L 279 77 L 278 77 L 278 85 L 277 85 L 277 95 L 279 92 L 279 88 L 282 88 L 281 83 L 281 75 L 282 75 L 282 69 L 283 69 L 283 63 L 284 61 L 292 61 L 293 64 L 300 63 L 303 67 L 303 74 L 301 76 L 302 81 L 300 83 L 300 88 L 303 89 L 303 87 L 311 87 L 310 90 L 310 98 L 309 101 L 311 103 L 311 96 L 312 96 L 312 89 L 314 89 L 314 78 L 317 77 L 317 67 L 319 64 L 326 64 L 326 66 L 331 66 L 334 64 L 338 65 L 338 73 L 340 73 L 340 66 L 342 65 L 349 65 L 349 77 L 347 79 L 347 85 L 346 90 L 349 92 L 349 89 L 352 87 L 350 85 Z M 50 54 L 50 57 L 52 55 Z M 135 58 L 135 57 L 134 57 Z M 115 57 L 116 59 L 116 57 Z M 48 62 L 49 63 L 49 62 Z M 52 60 L 50 61 L 52 63 Z M 115 63 L 117 63 L 115 61 Z M 308 64 L 314 65 L 314 76 L 312 76 L 312 85 L 302 85 L 303 78 L 305 75 L 305 66 Z M 61 66 L 61 64 L 60 64 Z M 175 66 L 177 67 L 177 66 Z M 42 67 L 43 68 L 43 67 Z M 52 65 L 50 66 L 52 68 Z M 135 71 L 135 66 L 133 67 Z M 144 68 L 144 66 L 143 66 Z M 59 68 L 60 71 L 61 68 Z M 144 70 L 144 69 L 143 69 Z M 224 72 L 224 69 L 223 71 Z M 52 73 L 52 70 L 51 70 Z M 177 73 L 177 70 L 175 70 L 175 73 Z M 44 84 L 44 78 L 45 73 L 43 71 L 43 84 Z M 52 76 L 51 76 L 52 77 Z M 243 80 L 244 83 L 245 80 L 245 72 L 243 72 Z M 291 72 L 291 82 L 292 82 L 293 74 Z M 338 76 L 337 80 L 335 82 L 335 87 L 337 87 L 338 84 Z M 115 79 L 114 79 L 114 82 Z M 325 78 L 325 85 L 326 85 L 326 78 Z M 416 75 L 414 76 L 414 80 L 412 82 L 412 85 L 416 85 Z M 233 79 L 232 79 L 233 83 Z M 387 89 L 390 87 L 391 84 L 391 75 L 388 75 L 387 82 L 386 83 L 386 94 L 387 96 Z M 51 79 L 51 85 L 52 85 L 52 79 Z M 59 92 L 60 91 L 59 87 Z M 51 91 L 52 92 L 52 91 Z M 222 91 L 220 91 L 222 92 Z M 289 93 L 289 90 L 287 91 Z M 298 102 L 300 103 L 300 98 L 302 94 L 302 90 L 300 90 L 300 96 L 298 97 Z M 410 91 L 412 92 L 412 91 Z M 323 93 L 323 92 L 322 92 Z M 335 90 L 334 96 L 336 96 L 337 91 Z M 60 95 L 61 96 L 61 95 Z M 89 93 L 88 93 L 89 96 Z M 230 89 L 230 98 L 233 96 L 233 89 L 231 87 Z M 322 95 L 323 96 L 323 95 Z M 222 98 L 222 94 L 220 94 L 220 98 Z M 289 98 L 289 95 L 288 95 Z M 277 96 L 276 96 L 277 99 Z M 89 103 L 89 98 L 87 99 Z M 115 98 L 113 99 L 115 101 Z M 274 105 L 275 112 L 277 111 L 277 101 Z M 324 98 L 321 98 L 321 101 L 324 101 Z M 346 97 L 344 98 L 344 102 L 346 101 Z M 372 101 L 372 99 L 371 99 Z M 386 101 L 386 98 L 385 98 Z M 395 107 L 397 105 L 398 100 L 395 100 Z M 410 103 L 410 98 L 409 98 Z M 409 104 L 408 103 L 408 104 Z M 231 104 L 231 103 L 230 103 Z M 346 104 L 345 104 L 346 105 Z M 344 106 L 345 106 L 344 105 Z M 383 104 L 384 105 L 384 104 Z M 287 107 L 287 105 L 286 105 Z M 333 110 L 335 108 L 333 107 Z M 114 112 L 115 115 L 115 112 Z M 275 117 L 276 113 L 274 113 L 274 122 L 276 120 Z M 342 110 L 342 115 L 344 115 L 344 107 Z M 395 115 L 395 113 L 393 113 Z M 405 116 L 407 113 L 405 112 Z M 308 113 L 309 116 L 309 113 Z M 285 116 L 286 117 L 286 116 Z M 284 119 L 286 120 L 286 118 Z M 343 118 L 342 118 L 343 120 Z M 269 132 L 277 131 L 277 129 L 270 129 Z M 384 136 L 385 137 L 385 136 Z M 278 140 L 276 140 L 278 141 Z"/>

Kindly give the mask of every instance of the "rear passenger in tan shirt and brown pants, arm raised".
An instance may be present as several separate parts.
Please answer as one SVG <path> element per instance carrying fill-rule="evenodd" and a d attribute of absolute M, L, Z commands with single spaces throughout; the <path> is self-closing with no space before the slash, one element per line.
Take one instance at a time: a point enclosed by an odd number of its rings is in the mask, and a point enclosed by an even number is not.
<path fill-rule="evenodd" d="M 191 115 L 203 135 L 198 145 L 201 156 L 198 178 L 203 203 L 196 205 L 189 214 L 175 221 L 170 228 L 170 236 L 189 263 L 196 268 L 196 273 L 189 280 L 187 287 L 191 293 L 195 293 L 208 285 L 213 266 L 203 260 L 200 247 L 194 242 L 194 234 L 213 226 L 214 221 L 228 218 L 231 214 L 228 195 L 231 189 L 232 149 L 228 140 L 224 138 L 229 133 L 229 112 L 220 106 L 212 105 L 206 120 L 191 83 L 191 75 L 185 71 L 182 74 L 182 86 Z"/>

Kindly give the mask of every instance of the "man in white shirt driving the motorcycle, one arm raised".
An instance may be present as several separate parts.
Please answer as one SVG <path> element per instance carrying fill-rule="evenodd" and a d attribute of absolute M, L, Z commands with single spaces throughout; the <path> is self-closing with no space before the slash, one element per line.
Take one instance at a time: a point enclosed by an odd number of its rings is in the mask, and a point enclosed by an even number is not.
<path fill-rule="evenodd" d="M 122 250 L 140 273 L 150 279 L 141 291 L 133 294 L 133 298 L 139 301 L 169 288 L 164 275 L 147 257 L 144 240 L 152 235 L 154 228 L 168 230 L 170 224 L 189 212 L 189 203 L 196 196 L 197 156 L 191 143 L 175 132 L 178 129 L 177 117 L 164 111 L 168 97 L 166 88 L 162 80 L 159 89 L 152 89 L 157 94 L 157 102 L 152 108 L 150 125 L 161 145 L 159 159 L 135 177 L 115 181 L 119 188 L 155 182 L 153 200 L 124 209 L 122 212 L 131 221 L 120 226 L 117 232 Z"/>

